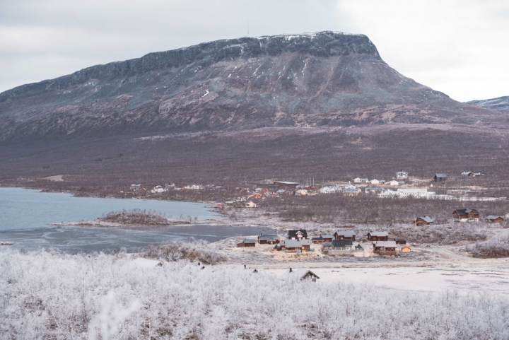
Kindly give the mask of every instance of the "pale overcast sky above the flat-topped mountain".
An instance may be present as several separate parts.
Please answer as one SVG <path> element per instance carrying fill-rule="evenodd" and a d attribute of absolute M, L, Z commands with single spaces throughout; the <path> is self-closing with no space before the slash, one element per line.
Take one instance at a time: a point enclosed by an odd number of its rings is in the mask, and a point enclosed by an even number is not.
<path fill-rule="evenodd" d="M 0 92 L 248 28 L 362 33 L 455 100 L 509 95 L 508 0 L 0 0 Z"/>

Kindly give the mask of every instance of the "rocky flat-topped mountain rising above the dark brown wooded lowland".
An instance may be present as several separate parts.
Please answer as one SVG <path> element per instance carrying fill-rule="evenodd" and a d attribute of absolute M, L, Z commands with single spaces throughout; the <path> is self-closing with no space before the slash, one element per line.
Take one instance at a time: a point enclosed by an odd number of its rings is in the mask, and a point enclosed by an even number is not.
<path fill-rule="evenodd" d="M 92 66 L 0 94 L 0 140 L 410 123 L 490 124 L 496 112 L 405 78 L 365 35 L 206 42 Z"/>

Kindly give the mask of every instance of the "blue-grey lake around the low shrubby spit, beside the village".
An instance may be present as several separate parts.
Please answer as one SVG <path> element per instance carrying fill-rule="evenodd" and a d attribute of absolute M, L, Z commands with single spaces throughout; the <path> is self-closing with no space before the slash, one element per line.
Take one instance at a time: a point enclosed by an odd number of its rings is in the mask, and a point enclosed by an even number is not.
<path fill-rule="evenodd" d="M 51 223 L 90 221 L 110 211 L 153 210 L 169 218 L 197 218 L 197 225 L 168 227 L 90 228 Z M 21 188 L 0 188 L 0 241 L 14 242 L 15 248 L 36 250 L 57 248 L 65 252 L 112 251 L 126 248 L 136 252 L 156 243 L 195 238 L 214 242 L 233 236 L 258 235 L 264 227 L 207 225 L 222 218 L 209 204 L 143 199 L 100 199 L 71 194 L 43 193 Z"/>

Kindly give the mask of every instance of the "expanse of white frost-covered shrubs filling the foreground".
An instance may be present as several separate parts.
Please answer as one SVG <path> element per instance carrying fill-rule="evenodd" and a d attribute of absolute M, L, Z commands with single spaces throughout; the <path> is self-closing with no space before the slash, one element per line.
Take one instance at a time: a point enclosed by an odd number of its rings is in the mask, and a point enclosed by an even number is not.
<path fill-rule="evenodd" d="M 0 253 L 0 339 L 509 339 L 509 298 L 281 281 L 127 254 Z"/>

